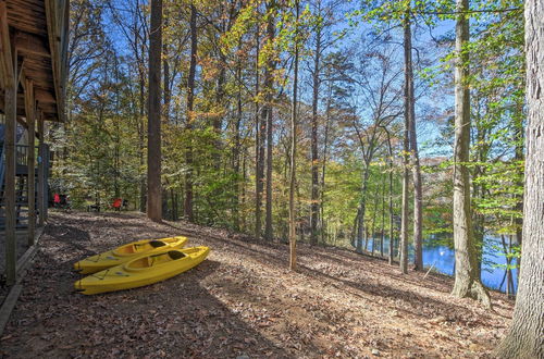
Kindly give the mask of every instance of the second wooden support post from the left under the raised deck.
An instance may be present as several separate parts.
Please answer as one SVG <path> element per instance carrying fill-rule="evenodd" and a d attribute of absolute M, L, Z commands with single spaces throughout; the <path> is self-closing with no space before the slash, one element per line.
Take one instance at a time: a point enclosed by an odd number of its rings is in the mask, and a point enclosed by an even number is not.
<path fill-rule="evenodd" d="M 26 123 L 28 125 L 28 246 L 34 245 L 34 234 L 36 230 L 36 156 L 35 156 L 35 121 L 36 102 L 34 100 L 34 84 L 26 79 L 25 110 Z"/>

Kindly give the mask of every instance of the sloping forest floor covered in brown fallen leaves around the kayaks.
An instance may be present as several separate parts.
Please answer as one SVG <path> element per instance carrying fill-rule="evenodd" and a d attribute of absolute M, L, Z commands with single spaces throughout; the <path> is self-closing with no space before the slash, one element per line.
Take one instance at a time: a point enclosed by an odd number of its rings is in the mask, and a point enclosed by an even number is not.
<path fill-rule="evenodd" d="M 137 289 L 84 296 L 72 264 L 134 239 L 186 235 L 212 251 L 197 268 Z M 135 213 L 51 213 L 0 338 L 0 356 L 486 358 L 512 311 L 449 295 L 452 278 L 399 274 L 345 249 L 288 246 Z"/>

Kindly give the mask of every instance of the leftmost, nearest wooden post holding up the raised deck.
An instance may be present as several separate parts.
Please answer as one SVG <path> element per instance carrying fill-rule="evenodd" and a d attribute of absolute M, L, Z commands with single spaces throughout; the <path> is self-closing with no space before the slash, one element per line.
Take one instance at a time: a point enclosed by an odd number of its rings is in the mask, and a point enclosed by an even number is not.
<path fill-rule="evenodd" d="M 4 98 L 4 153 L 5 153 L 5 280 L 8 285 L 15 284 L 15 267 L 17 262 L 17 238 L 15 234 L 15 128 L 17 116 L 17 81 L 16 81 L 16 57 L 12 52 L 12 45 L 8 28 L 7 7 L 0 1 L 0 41 L 5 75 Z"/>

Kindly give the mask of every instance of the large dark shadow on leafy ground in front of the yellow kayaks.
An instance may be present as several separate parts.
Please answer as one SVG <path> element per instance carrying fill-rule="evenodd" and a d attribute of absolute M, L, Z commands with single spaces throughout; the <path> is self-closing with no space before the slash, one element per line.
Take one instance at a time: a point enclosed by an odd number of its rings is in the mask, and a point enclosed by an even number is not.
<path fill-rule="evenodd" d="M 39 255 L 12 314 L 0 355 L 7 357 L 288 358 L 244 322 L 201 282 L 221 270 L 197 268 L 146 287 L 84 296 L 73 290 L 54 255 Z"/>

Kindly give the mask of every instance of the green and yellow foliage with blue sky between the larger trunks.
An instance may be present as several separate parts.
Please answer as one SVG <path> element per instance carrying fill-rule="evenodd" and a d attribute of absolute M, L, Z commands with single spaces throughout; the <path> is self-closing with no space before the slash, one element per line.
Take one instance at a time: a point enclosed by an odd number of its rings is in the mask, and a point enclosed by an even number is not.
<path fill-rule="evenodd" d="M 148 9 L 136 9 L 132 1 L 113 1 L 112 7 L 102 0 L 74 0 L 73 4 L 82 16 L 79 22 L 78 16 L 72 16 L 71 24 L 74 49 L 67 86 L 70 121 L 52 126 L 49 134 L 54 137 L 57 154 L 51 185 L 54 190 L 69 193 L 78 208 L 95 201 L 104 207 L 113 198 L 123 197 L 131 209 L 139 209 L 140 200 L 145 201 L 147 172 Z M 272 218 L 275 236 L 287 237 L 289 82 L 297 46 L 301 59 L 297 233 L 307 236 L 312 205 L 312 61 L 316 37 L 322 32 L 322 57 L 317 69 L 320 181 L 325 170 L 320 185 L 324 191 L 319 202 L 323 210 L 321 238 L 349 245 L 366 164 L 369 177 L 363 198 L 364 226 L 374 224 L 376 232 L 386 233 L 393 227 L 396 236 L 404 120 L 398 42 L 400 25 L 409 18 L 415 32 L 418 132 L 431 133 L 430 137 L 440 133 L 431 146 L 445 153 L 435 157 L 428 152 L 421 159 L 423 232 L 430 244 L 452 246 L 452 64 L 456 54 L 453 32 L 440 36 L 436 42 L 426 33 L 434 35 L 436 28 L 443 32 L 441 27 L 452 27 L 450 20 L 461 15 L 456 13 L 454 1 L 364 0 L 339 5 L 326 0 L 301 1 L 298 21 L 294 0 L 196 1 L 197 75 L 190 129 L 186 111 L 189 2 L 168 0 L 164 4 L 162 60 L 169 78 L 163 79 L 162 87 L 170 100 L 163 103 L 161 160 L 166 219 L 182 218 L 186 174 L 190 173 L 196 222 L 252 233 L 256 117 L 262 119 L 270 95 L 263 88 L 264 70 L 274 63 Z M 470 5 L 471 11 L 462 15 L 469 16 L 471 23 L 471 41 L 463 49 L 469 59 L 463 65 L 470 70 L 471 157 L 462 164 L 471 173 L 474 232 L 482 247 L 490 233 L 515 235 L 522 220 L 524 34 L 522 11 L 518 9 L 522 8 L 521 0 L 479 0 Z M 512 10 L 475 12 L 507 8 Z M 275 21 L 273 40 L 267 34 L 271 16 Z M 124 36 L 122 41 L 120 36 Z M 386 76 L 382 76 L 384 73 Z M 376 106 L 380 97 L 385 99 L 384 107 Z M 429 103 L 431 110 L 425 107 Z M 388 116 L 393 120 L 378 121 Z M 370 134 L 376 128 L 378 137 L 372 138 Z M 391 133 L 392 159 L 384 128 Z M 431 141 L 425 138 L 425 143 Z M 370 145 L 375 148 L 366 163 L 363 152 Z M 186 160 L 189 147 L 194 157 L 190 166 Z M 390 160 L 393 223 L 388 215 Z M 516 249 L 514 252 L 518 253 Z"/>

